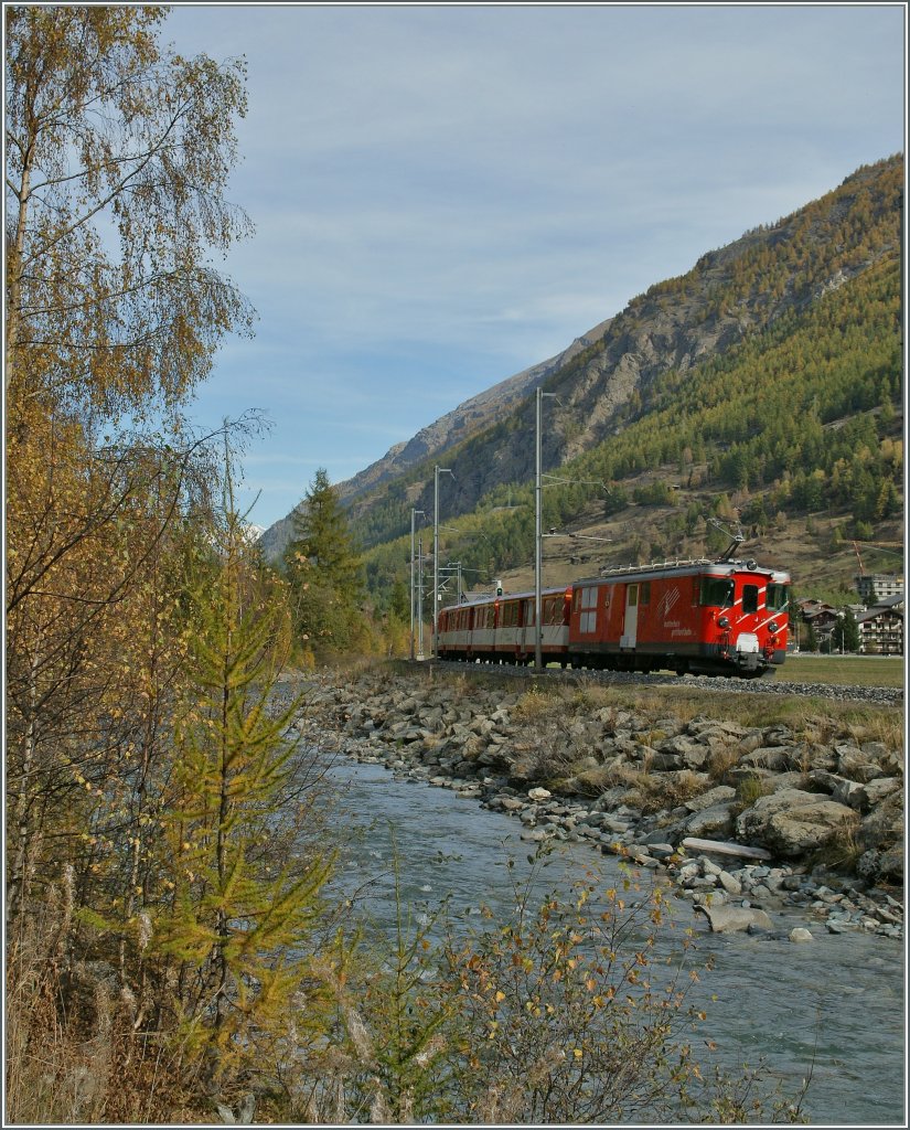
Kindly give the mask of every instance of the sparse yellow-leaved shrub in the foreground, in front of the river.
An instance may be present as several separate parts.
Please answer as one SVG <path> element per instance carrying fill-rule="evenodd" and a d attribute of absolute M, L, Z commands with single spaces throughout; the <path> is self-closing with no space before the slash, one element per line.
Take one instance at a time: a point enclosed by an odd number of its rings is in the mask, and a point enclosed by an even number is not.
<path fill-rule="evenodd" d="M 659 889 L 635 871 L 615 887 L 592 872 L 540 899 L 531 889 L 516 885 L 514 913 L 485 911 L 476 928 L 412 928 L 400 907 L 382 975 L 338 983 L 324 1113 L 342 1096 L 349 1115 L 418 1123 L 800 1119 L 756 1072 L 697 1062 L 691 1032 L 706 1016 L 689 994 L 705 971 L 690 966 L 688 931 L 681 957 L 658 956 L 671 928 Z"/>

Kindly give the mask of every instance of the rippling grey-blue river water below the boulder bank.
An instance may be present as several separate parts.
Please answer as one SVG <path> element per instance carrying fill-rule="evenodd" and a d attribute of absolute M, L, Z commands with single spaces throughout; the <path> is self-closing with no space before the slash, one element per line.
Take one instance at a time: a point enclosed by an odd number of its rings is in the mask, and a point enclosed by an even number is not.
<path fill-rule="evenodd" d="M 362 833 L 342 852 L 336 889 L 356 896 L 379 928 L 394 921 L 395 857 L 402 899 L 418 914 L 431 914 L 447 896 L 469 919 L 481 904 L 504 913 L 513 907 L 513 881 L 531 876 L 534 851 L 520 841 L 516 819 L 379 765 L 340 760 L 330 772 L 342 786 L 339 826 Z M 612 858 L 566 845 L 542 872 L 541 892 L 594 860 L 605 879 L 621 878 Z M 784 938 L 712 935 L 691 904 L 672 904 L 676 920 L 695 928 L 699 956 L 715 960 L 695 991 L 708 1014 L 703 1036 L 718 1045 L 725 1066 L 764 1059 L 788 1095 L 812 1069 L 804 1111 L 813 1124 L 907 1124 L 900 942 L 830 935 L 790 915 L 779 921 Z M 808 925 L 814 941 L 787 940 L 793 925 Z"/>

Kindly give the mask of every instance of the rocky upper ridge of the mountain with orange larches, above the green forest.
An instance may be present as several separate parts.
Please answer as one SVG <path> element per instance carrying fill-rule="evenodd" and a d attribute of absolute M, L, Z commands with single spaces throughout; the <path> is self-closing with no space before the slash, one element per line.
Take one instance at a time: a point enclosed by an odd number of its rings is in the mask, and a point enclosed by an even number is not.
<path fill-rule="evenodd" d="M 443 502 L 449 518 L 471 513 L 504 485 L 527 483 L 534 473 L 531 393 L 539 383 L 558 397 L 548 401 L 544 470 L 596 446 L 642 410 L 657 377 L 675 372 L 684 380 L 899 254 L 902 208 L 903 159 L 896 155 L 708 252 L 562 354 L 466 401 L 343 484 L 355 532 L 366 548 L 377 546 L 405 533 L 412 506 L 431 512 L 432 464 L 444 453 L 454 475 L 446 477 Z"/>

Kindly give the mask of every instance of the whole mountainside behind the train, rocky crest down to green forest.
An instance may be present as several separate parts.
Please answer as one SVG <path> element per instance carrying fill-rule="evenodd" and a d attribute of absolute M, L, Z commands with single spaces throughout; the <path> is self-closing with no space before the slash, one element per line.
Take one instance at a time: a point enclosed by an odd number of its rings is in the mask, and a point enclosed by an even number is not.
<path fill-rule="evenodd" d="M 597 532 L 614 563 L 712 551 L 724 537 L 712 518 L 789 541 L 794 522 L 805 530 L 824 510 L 835 541 L 893 537 L 902 181 L 900 158 L 860 169 L 702 257 L 546 380 L 558 400 L 545 401 L 544 525 L 612 520 Z M 533 428 L 530 397 L 446 457 L 443 551 L 479 585 L 533 559 Z M 432 488 L 427 461 L 352 511 L 380 601 L 408 560 L 411 507 L 431 518 Z"/>

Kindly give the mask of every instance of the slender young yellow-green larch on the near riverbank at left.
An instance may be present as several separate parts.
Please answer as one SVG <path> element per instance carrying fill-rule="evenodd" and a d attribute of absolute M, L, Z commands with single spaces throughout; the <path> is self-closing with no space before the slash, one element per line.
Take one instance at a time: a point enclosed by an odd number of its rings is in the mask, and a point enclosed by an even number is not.
<path fill-rule="evenodd" d="M 273 692 L 289 646 L 285 586 L 263 586 L 230 490 L 217 557 L 187 579 L 194 701 L 177 728 L 166 818 L 173 898 L 156 949 L 180 971 L 190 1046 L 220 1086 L 254 1053 L 252 1035 L 291 1020 L 307 935 L 330 861 L 277 852 L 297 811 L 295 699 Z"/>

